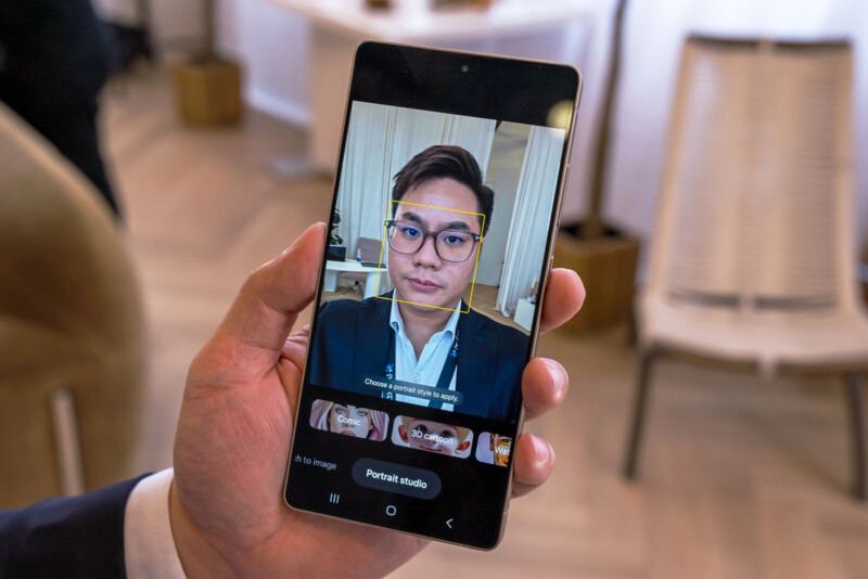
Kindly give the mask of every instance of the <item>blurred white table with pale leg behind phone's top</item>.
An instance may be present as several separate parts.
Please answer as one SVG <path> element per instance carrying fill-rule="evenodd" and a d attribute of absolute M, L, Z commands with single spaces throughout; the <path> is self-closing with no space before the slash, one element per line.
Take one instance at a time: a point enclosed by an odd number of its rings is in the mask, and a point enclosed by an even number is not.
<path fill-rule="evenodd" d="M 575 64 L 586 49 L 595 0 L 498 0 L 489 9 L 430 10 L 426 0 L 268 0 L 306 17 L 310 39 L 308 140 L 314 168 L 334 172 L 353 54 L 362 40 L 469 50 Z M 561 34 L 558 38 L 557 33 Z"/>

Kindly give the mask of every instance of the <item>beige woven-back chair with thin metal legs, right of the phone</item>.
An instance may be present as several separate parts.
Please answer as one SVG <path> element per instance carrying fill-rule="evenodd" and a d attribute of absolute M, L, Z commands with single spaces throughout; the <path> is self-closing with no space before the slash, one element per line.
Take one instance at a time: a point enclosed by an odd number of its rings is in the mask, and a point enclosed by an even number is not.
<path fill-rule="evenodd" d="M 868 319 L 856 293 L 852 69 L 846 42 L 687 40 L 638 304 L 627 478 L 652 366 L 677 357 L 764 375 L 842 375 L 853 492 L 866 499 Z"/>

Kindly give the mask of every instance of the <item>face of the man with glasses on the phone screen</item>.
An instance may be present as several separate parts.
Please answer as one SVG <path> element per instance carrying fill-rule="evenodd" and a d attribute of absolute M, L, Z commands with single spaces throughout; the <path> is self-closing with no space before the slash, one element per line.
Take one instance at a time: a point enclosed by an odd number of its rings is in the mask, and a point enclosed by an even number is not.
<path fill-rule="evenodd" d="M 437 178 L 407 191 L 398 204 L 395 220 L 411 222 L 431 232 L 449 229 L 480 234 L 480 217 L 474 215 L 477 211 L 476 196 L 470 188 L 454 179 Z M 455 309 L 473 280 L 477 248 L 474 247 L 464 261 L 447 261 L 437 255 L 434 243 L 433 236 L 427 237 L 412 255 L 390 247 L 388 275 L 395 285 L 395 297 L 422 305 L 409 307 Z"/>

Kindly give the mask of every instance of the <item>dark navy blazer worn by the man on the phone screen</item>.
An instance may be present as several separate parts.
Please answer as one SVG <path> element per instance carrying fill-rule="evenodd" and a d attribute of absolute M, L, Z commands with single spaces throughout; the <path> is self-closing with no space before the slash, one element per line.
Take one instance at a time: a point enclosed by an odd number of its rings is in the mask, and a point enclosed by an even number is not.
<path fill-rule="evenodd" d="M 391 300 L 375 297 L 323 304 L 310 350 L 310 383 L 375 396 L 362 379 L 384 375 L 391 309 Z M 458 332 L 456 390 L 464 401 L 456 412 L 495 420 L 516 416 L 529 337 L 473 310 L 460 314 Z"/>

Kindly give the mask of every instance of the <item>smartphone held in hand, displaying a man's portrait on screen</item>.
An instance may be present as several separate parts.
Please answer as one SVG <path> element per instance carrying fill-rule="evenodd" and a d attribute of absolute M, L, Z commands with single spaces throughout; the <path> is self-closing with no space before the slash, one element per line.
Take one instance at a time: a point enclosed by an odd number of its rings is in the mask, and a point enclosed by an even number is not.
<path fill-rule="evenodd" d="M 290 506 L 497 545 L 579 85 L 565 65 L 358 47 Z"/>

